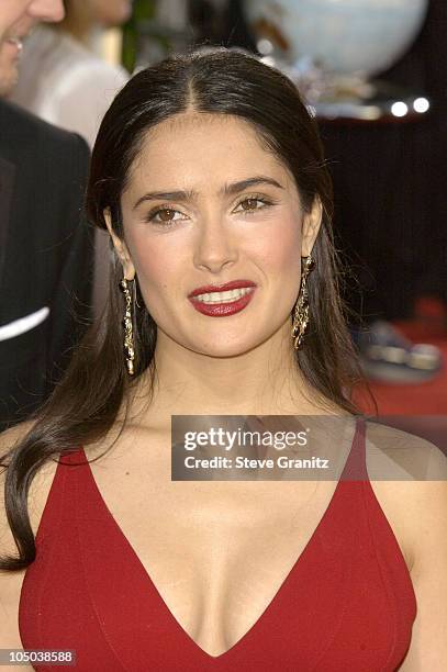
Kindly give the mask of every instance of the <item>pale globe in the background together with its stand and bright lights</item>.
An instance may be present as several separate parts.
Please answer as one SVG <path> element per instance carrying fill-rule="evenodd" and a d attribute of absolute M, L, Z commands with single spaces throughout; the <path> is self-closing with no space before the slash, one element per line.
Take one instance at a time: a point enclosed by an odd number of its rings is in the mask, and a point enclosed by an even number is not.
<path fill-rule="evenodd" d="M 401 101 L 372 81 L 405 54 L 427 9 L 428 0 L 245 0 L 262 59 L 295 81 L 315 113 L 366 121 L 428 109 L 420 94 Z"/>

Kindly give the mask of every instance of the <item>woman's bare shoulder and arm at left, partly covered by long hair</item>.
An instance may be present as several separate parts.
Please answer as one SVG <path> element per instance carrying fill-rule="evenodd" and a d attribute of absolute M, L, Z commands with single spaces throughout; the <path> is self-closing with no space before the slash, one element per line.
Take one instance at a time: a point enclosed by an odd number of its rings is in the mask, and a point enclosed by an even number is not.
<path fill-rule="evenodd" d="M 4 483 L 5 466 L 9 463 L 8 453 L 30 432 L 33 423 L 26 422 L 0 434 L 0 556 L 16 557 L 18 548 L 12 535 L 5 511 Z M 30 520 L 34 535 L 37 531 L 43 508 L 49 492 L 57 463 L 51 461 L 37 472 L 29 492 Z M 25 570 L 0 570 L 0 649 L 22 648 L 19 634 L 19 601 Z M 31 668 L 26 668 L 31 669 Z"/>

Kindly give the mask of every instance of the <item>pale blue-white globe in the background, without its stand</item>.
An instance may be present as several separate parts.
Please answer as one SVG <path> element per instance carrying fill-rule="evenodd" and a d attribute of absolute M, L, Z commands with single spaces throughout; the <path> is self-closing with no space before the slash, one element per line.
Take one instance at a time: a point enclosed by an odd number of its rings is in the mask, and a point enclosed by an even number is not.
<path fill-rule="evenodd" d="M 250 26 L 290 63 L 310 57 L 340 75 L 368 78 L 412 44 L 428 0 L 246 0 Z M 276 44 L 275 44 L 276 43 Z"/>

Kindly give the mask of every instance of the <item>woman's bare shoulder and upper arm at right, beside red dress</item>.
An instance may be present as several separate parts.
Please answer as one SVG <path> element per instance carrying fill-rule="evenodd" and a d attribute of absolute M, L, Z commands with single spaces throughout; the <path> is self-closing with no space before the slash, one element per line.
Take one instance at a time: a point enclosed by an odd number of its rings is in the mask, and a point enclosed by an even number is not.
<path fill-rule="evenodd" d="M 409 569 L 416 597 L 411 646 L 400 670 L 444 672 L 447 669 L 447 458 L 435 444 L 412 432 L 377 426 L 371 428 L 370 437 L 382 462 L 388 460 L 385 467 L 393 469 L 398 463 L 405 477 L 371 483 L 405 560 L 410 556 Z"/>

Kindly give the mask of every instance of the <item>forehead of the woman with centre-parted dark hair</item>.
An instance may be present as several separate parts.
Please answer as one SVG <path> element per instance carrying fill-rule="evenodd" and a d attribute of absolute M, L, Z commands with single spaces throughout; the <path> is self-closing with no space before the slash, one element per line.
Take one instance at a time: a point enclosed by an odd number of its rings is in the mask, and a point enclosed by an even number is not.
<path fill-rule="evenodd" d="M 224 114 L 187 112 L 161 122 L 144 138 L 131 169 L 127 190 L 147 187 L 213 186 L 268 173 L 293 188 L 288 168 L 247 121 Z"/>

